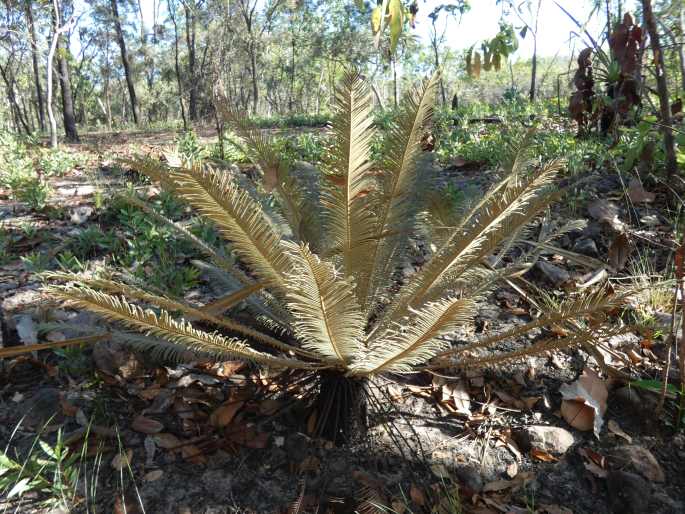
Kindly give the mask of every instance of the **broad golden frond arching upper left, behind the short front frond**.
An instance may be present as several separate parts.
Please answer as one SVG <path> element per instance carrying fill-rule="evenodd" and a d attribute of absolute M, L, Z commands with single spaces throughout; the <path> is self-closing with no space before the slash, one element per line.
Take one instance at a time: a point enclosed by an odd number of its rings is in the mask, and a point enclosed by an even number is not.
<path fill-rule="evenodd" d="M 228 175 L 212 170 L 181 169 L 171 177 L 177 194 L 216 224 L 266 285 L 285 293 L 283 277 L 290 259 L 280 247 L 281 235 L 259 204 Z"/>

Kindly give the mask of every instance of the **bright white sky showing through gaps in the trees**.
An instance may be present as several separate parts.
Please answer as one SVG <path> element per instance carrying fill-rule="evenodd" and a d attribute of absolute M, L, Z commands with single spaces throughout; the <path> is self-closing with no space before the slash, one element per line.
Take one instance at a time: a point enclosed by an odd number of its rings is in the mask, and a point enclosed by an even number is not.
<path fill-rule="evenodd" d="M 143 18 L 145 24 L 152 25 L 153 4 L 158 0 L 141 0 Z M 349 0 L 353 2 L 353 0 Z M 522 1 L 522 0 L 521 0 Z M 533 3 L 536 0 L 532 0 Z M 590 12 L 591 0 L 558 0 L 576 19 L 581 23 L 586 22 Z M 163 4 L 164 2 L 162 2 Z M 416 28 L 413 29 L 419 39 L 429 44 L 431 23 L 428 14 L 438 5 L 449 3 L 449 0 L 419 0 L 419 13 L 416 20 Z M 630 7 L 635 0 L 624 2 Z M 438 23 L 439 32 L 447 23 L 446 44 L 456 50 L 463 50 L 478 44 L 484 39 L 495 36 L 499 30 L 501 7 L 496 5 L 496 0 L 470 0 L 471 9 L 461 21 L 452 18 L 447 20 L 444 16 L 442 23 Z M 77 0 L 77 12 L 88 7 L 84 0 Z M 161 20 L 163 22 L 163 19 Z M 521 23 L 512 18 L 514 26 L 520 27 Z M 587 24 L 588 31 L 597 38 L 604 30 L 606 23 L 603 15 L 595 15 Z M 577 31 L 575 24 L 564 12 L 559 9 L 554 0 L 542 0 L 540 8 L 540 22 L 538 26 L 538 55 L 543 57 L 569 56 L 573 54 L 574 45 L 579 45 L 572 40 L 572 32 Z M 73 42 L 72 42 L 73 43 Z M 524 39 L 519 39 L 519 49 L 513 56 L 514 59 L 528 59 L 533 54 L 533 39 L 530 34 Z"/>

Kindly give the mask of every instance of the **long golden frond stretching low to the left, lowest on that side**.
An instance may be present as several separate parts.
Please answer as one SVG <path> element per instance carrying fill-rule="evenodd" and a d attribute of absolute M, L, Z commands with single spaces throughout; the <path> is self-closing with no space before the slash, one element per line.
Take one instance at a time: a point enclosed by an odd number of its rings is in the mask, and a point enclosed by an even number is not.
<path fill-rule="evenodd" d="M 239 339 L 197 330 L 187 321 L 175 320 L 165 310 L 160 310 L 159 314 L 150 309 L 143 310 L 120 296 L 101 293 L 88 287 L 75 286 L 48 286 L 46 291 L 66 301 L 69 305 L 89 310 L 147 335 L 182 345 L 189 350 L 217 357 L 232 356 L 271 366 L 300 369 L 315 367 L 295 359 L 257 352 Z"/>

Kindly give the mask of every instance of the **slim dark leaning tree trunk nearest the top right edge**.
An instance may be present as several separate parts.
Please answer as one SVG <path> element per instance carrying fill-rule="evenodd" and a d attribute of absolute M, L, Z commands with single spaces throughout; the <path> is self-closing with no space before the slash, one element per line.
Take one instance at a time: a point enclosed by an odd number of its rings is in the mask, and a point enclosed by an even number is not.
<path fill-rule="evenodd" d="M 668 98 L 668 85 L 666 80 L 666 68 L 664 66 L 664 54 L 659 43 L 659 32 L 657 30 L 654 12 L 652 11 L 651 0 L 642 0 L 642 12 L 656 64 L 656 86 L 657 92 L 659 93 L 661 132 L 664 136 L 664 149 L 666 150 L 666 174 L 668 177 L 671 177 L 678 169 L 678 162 L 676 160 L 675 140 L 673 138 L 673 129 L 671 127 L 671 105 Z"/>

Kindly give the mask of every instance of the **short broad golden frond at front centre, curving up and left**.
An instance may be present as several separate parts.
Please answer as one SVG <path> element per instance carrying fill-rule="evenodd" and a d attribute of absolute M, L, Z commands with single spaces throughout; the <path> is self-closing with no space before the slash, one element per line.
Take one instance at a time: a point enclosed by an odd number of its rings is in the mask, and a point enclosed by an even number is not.
<path fill-rule="evenodd" d="M 345 365 L 359 350 L 365 320 L 354 285 L 305 245 L 288 244 L 294 263 L 287 277 L 288 307 L 303 347 Z"/>

